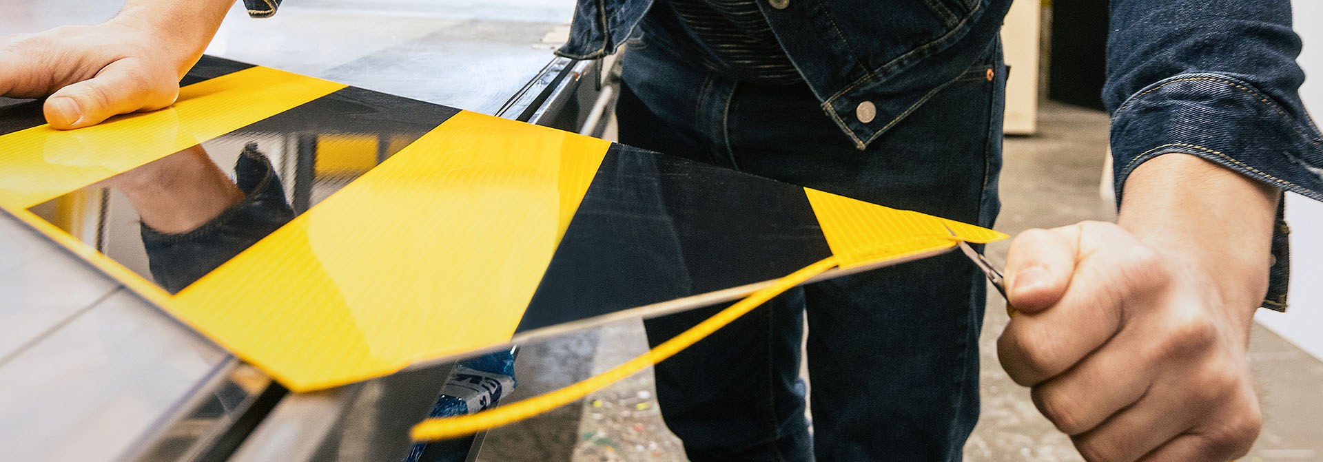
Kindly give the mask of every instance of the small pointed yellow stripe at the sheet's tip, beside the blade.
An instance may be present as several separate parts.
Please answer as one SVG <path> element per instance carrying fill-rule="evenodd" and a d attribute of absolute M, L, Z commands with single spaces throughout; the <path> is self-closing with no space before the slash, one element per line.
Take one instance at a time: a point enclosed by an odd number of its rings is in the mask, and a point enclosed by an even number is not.
<path fill-rule="evenodd" d="M 992 242 L 1005 234 L 938 218 L 912 210 L 898 210 L 861 200 L 804 188 L 818 216 L 827 246 L 840 259 L 841 269 L 872 262 L 918 255 L 955 246 L 943 224 L 966 242 Z"/>

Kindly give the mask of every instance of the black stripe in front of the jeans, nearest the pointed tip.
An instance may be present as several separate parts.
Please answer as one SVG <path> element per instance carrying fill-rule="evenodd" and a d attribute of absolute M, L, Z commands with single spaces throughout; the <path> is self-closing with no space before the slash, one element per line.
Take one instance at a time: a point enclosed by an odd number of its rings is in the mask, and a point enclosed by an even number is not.
<path fill-rule="evenodd" d="M 802 188 L 617 144 L 517 331 L 775 279 L 830 254 Z"/>

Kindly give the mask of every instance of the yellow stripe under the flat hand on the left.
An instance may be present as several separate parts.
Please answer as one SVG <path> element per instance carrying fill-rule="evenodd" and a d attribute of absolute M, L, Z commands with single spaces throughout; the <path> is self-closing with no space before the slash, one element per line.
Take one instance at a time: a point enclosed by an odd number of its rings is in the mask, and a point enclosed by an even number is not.
<path fill-rule="evenodd" d="M 25 209 L 345 87 L 250 68 L 180 89 L 173 106 L 60 131 L 0 136 L 0 205 Z"/>

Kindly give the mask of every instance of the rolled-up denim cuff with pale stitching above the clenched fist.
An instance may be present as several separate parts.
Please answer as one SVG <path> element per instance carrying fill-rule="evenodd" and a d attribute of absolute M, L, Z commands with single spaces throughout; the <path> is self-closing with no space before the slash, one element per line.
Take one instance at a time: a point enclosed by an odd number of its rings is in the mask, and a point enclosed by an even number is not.
<path fill-rule="evenodd" d="M 1253 85 L 1224 74 L 1183 74 L 1130 97 L 1111 120 L 1117 204 L 1139 164 L 1188 154 L 1282 191 L 1323 200 L 1323 139 L 1303 109 L 1283 106 Z M 1269 294 L 1283 311 L 1290 267 L 1287 228 L 1278 210 Z"/>

